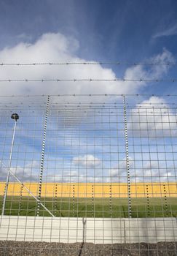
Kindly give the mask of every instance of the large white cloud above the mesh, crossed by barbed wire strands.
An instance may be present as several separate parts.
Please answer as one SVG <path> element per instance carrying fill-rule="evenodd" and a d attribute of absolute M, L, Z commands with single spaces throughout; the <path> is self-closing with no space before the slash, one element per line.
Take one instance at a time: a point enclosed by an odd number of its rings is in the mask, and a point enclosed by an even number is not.
<path fill-rule="evenodd" d="M 0 51 L 0 62 L 35 63 L 35 62 L 87 62 L 76 56 L 79 42 L 63 34 L 44 34 L 33 44 L 21 42 L 12 48 Z M 173 56 L 168 50 L 163 50 L 159 56 L 161 61 L 172 61 Z M 154 67 L 149 70 L 141 66 L 129 67 L 125 70 L 125 78 L 160 78 L 169 67 Z M 40 79 L 40 78 L 101 78 L 115 79 L 117 75 L 112 69 L 101 65 L 64 65 L 64 66 L 2 66 L 1 80 L 6 79 Z M 123 83 L 123 86 L 122 86 Z M 134 93 L 144 82 L 37 82 L 37 83 L 1 83 L 1 94 L 126 94 Z"/>

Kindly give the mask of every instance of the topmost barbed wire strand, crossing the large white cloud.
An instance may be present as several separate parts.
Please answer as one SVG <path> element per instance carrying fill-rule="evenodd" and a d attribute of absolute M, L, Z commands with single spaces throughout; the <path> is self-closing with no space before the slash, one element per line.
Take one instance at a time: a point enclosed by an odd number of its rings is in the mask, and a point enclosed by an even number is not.
<path fill-rule="evenodd" d="M 128 62 L 128 61 L 96 61 L 96 62 L 34 62 L 34 63 L 0 63 L 0 66 L 42 66 L 42 65 L 127 65 L 127 66 L 176 66 L 176 62 Z"/>

